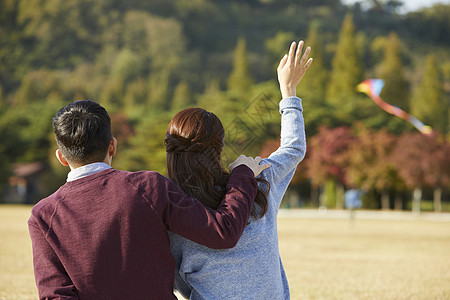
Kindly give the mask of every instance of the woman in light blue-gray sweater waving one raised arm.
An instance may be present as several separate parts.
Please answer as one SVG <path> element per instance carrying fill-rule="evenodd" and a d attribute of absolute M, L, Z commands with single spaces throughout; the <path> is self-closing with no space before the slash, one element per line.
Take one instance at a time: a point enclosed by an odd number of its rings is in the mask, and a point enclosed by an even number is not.
<path fill-rule="evenodd" d="M 277 213 L 295 168 L 306 151 L 301 100 L 296 87 L 311 65 L 310 48 L 302 56 L 293 42 L 277 69 L 281 145 L 262 160 L 271 167 L 259 176 L 252 217 L 232 249 L 213 250 L 170 234 L 177 262 L 175 288 L 190 299 L 289 299 L 289 287 L 278 249 Z M 169 178 L 188 195 L 215 208 L 229 177 L 220 164 L 224 129 L 212 113 L 188 108 L 169 123 L 165 140 Z M 268 189 L 270 186 L 270 190 Z"/>

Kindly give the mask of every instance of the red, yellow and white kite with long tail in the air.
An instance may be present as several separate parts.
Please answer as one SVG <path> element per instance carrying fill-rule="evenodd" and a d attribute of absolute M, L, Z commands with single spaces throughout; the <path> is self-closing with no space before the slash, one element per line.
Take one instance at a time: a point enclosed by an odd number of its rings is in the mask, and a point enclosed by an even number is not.
<path fill-rule="evenodd" d="M 403 120 L 408 121 L 414 127 L 417 128 L 423 135 L 431 135 L 433 130 L 430 126 L 423 124 L 419 119 L 414 116 L 411 116 L 407 112 L 401 110 L 397 106 L 391 105 L 385 102 L 380 97 L 381 90 L 383 89 L 384 81 L 381 79 L 366 79 L 360 84 L 356 86 L 356 90 L 358 92 L 362 92 L 367 94 L 372 100 L 378 105 L 381 109 L 390 113 L 394 116 L 402 118 Z"/>

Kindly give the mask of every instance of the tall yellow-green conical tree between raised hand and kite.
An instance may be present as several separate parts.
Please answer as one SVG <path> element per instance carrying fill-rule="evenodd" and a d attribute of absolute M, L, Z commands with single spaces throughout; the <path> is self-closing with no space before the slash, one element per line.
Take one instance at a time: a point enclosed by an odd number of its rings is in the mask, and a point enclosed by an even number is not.
<path fill-rule="evenodd" d="M 352 15 L 347 14 L 333 58 L 333 70 L 327 90 L 327 100 L 330 103 L 346 103 L 349 97 L 355 95 L 355 86 L 363 79 L 363 63 L 356 44 Z"/>

